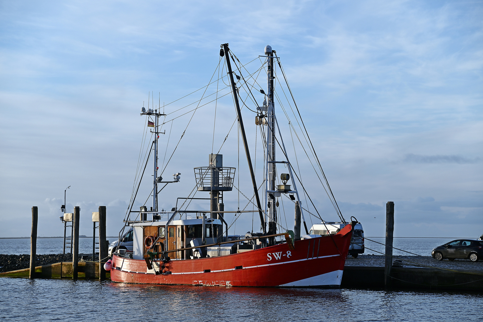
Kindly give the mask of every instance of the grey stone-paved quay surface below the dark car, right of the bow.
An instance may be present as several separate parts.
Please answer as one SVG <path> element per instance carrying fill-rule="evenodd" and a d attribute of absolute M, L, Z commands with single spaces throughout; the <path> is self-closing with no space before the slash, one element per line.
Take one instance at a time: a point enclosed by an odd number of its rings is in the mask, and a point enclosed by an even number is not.
<path fill-rule="evenodd" d="M 357 258 L 349 256 L 345 261 L 346 266 L 383 266 L 384 255 L 359 255 Z M 467 259 L 456 259 L 455 261 L 437 261 L 431 256 L 393 256 L 394 261 L 400 260 L 406 267 L 433 267 L 454 270 L 475 270 L 483 271 L 483 261 L 472 262 Z"/>

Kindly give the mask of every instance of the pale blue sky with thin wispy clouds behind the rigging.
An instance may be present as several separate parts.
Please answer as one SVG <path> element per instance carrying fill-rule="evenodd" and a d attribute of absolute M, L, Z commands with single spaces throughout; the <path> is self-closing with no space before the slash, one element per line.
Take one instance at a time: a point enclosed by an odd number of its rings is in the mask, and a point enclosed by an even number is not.
<path fill-rule="evenodd" d="M 276 50 L 341 212 L 355 216 L 366 236 L 384 236 L 385 204 L 394 201 L 395 236 L 476 238 L 483 234 L 482 16 L 483 1 L 2 0 L 0 237 L 29 236 L 32 206 L 39 209 L 38 235 L 61 236 L 68 186 L 67 212 L 80 207 L 80 234 L 92 235 L 91 212 L 105 205 L 107 234 L 117 235 L 148 92 L 162 105 L 202 88 L 228 43 L 242 63 L 263 55 L 266 45 Z M 247 69 L 259 67 L 254 61 Z M 207 166 L 212 146 L 223 142 L 235 119 L 229 97 L 217 103 L 214 139 L 214 103 L 163 127 L 160 154 L 169 156 L 193 116 L 163 174 L 168 180 L 181 172 L 182 179 L 160 194 L 160 207 L 190 193 L 193 168 Z M 255 114 L 242 114 L 254 154 Z M 293 150 L 289 133 L 284 140 Z M 238 147 L 235 126 L 220 153 L 250 198 Z M 317 210 L 337 220 L 303 151 L 297 153 Z M 225 199 L 231 210 L 248 202 L 235 189 Z M 291 229 L 293 207 L 285 207 L 283 226 Z M 305 215 L 309 226 L 320 222 Z M 251 215 L 241 216 L 230 234 L 249 230 Z"/>

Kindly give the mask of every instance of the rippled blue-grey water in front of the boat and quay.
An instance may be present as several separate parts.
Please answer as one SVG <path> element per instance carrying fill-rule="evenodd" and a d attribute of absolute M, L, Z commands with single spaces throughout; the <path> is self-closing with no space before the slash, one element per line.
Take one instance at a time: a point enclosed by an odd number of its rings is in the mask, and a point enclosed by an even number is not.
<path fill-rule="evenodd" d="M 133 285 L 0 278 L 15 321 L 477 321 L 482 293 Z"/>

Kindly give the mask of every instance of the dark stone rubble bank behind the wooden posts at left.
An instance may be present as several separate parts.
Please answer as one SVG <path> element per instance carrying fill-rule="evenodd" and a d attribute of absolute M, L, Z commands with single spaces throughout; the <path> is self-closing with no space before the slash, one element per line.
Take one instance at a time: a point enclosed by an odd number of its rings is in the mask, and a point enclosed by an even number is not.
<path fill-rule="evenodd" d="M 86 261 L 92 261 L 92 254 L 79 254 L 79 261 L 84 258 Z M 35 266 L 54 264 L 61 261 L 72 261 L 72 254 L 47 254 L 37 255 L 35 257 Z M 96 260 L 98 260 L 96 256 Z M 0 254 L 0 273 L 15 271 L 30 267 L 30 254 L 24 255 L 5 255 Z"/>

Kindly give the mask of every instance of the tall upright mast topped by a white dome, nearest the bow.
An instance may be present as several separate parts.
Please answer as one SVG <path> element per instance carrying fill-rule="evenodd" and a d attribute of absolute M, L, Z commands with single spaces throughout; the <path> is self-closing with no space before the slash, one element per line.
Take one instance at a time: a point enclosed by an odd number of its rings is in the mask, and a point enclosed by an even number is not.
<path fill-rule="evenodd" d="M 276 190 L 275 180 L 277 177 L 277 169 L 275 165 L 275 106 L 273 101 L 273 51 L 271 46 L 265 47 L 265 55 L 268 56 L 268 66 L 267 66 L 267 96 L 268 96 L 268 106 L 267 106 L 267 121 L 269 130 L 267 131 L 267 169 L 268 169 L 268 190 Z M 274 194 L 269 194 L 269 235 L 277 233 L 277 207 L 275 207 Z M 274 244 L 275 239 L 269 239 L 269 245 Z"/>

